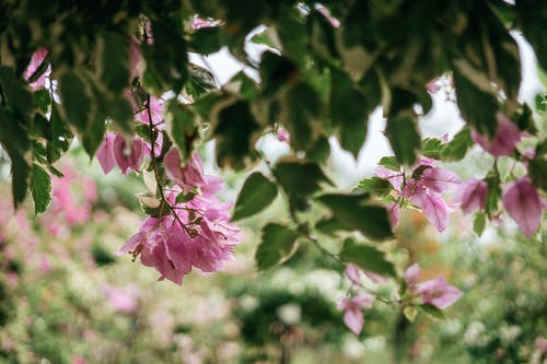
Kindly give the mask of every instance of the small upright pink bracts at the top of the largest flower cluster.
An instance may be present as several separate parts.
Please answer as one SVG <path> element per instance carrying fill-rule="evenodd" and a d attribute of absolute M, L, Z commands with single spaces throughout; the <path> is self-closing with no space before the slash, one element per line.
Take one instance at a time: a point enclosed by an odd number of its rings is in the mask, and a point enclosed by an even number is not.
<path fill-rule="evenodd" d="M 165 164 L 165 174 L 167 177 L 181 186 L 185 193 L 191 191 L 194 187 L 202 187 L 207 185 L 207 180 L 203 176 L 203 164 L 197 153 L 194 153 L 188 163 L 186 163 L 183 167 L 181 153 L 178 152 L 178 149 L 173 146 L 167 153 L 165 153 L 163 162 Z M 214 183 L 217 183 L 217 180 Z"/>

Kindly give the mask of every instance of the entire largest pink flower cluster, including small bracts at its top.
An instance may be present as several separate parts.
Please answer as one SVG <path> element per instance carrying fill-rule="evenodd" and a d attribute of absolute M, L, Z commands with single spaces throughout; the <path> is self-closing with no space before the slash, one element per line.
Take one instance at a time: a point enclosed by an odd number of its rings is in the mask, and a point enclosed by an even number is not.
<path fill-rule="evenodd" d="M 193 267 L 218 271 L 232 258 L 241 237 L 238 227 L 229 222 L 231 204 L 214 197 L 222 180 L 203 175 L 197 154 L 182 166 L 178 150 L 173 148 L 165 155 L 165 169 L 177 185 L 165 190 L 158 215 L 147 218 L 118 254 L 140 256 L 142 265 L 160 272 L 160 280 L 182 284 Z"/>

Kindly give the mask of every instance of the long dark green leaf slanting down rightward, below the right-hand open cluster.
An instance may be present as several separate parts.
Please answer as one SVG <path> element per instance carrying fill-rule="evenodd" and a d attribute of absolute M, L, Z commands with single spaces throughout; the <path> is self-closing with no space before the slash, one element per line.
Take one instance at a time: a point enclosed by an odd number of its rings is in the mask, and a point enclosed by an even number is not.
<path fill-rule="evenodd" d="M 374 240 L 393 238 L 387 210 L 371 204 L 368 193 L 323 195 L 317 200 L 329 208 L 346 227 L 357 230 Z"/>

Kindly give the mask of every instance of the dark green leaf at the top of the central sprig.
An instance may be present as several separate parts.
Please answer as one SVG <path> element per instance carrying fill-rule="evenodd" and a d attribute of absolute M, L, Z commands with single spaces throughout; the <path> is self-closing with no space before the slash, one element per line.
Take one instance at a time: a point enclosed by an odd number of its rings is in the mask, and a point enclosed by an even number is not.
<path fill-rule="evenodd" d="M 272 173 L 288 195 L 310 196 L 321 189 L 322 183 L 333 185 L 321 167 L 310 161 L 281 160 Z"/>

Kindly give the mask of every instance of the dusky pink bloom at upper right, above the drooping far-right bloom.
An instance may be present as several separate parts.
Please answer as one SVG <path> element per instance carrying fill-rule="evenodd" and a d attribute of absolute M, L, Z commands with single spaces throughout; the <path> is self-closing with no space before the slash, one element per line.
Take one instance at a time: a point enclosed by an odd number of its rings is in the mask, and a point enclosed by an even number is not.
<path fill-rule="evenodd" d="M 509 156 L 513 154 L 516 143 L 522 138 L 522 133 L 519 127 L 505 115 L 498 113 L 497 118 L 498 129 L 493 140 L 489 141 L 476 130 L 472 131 L 472 137 L 485 151 L 493 156 Z"/>

